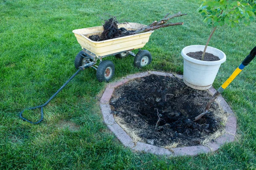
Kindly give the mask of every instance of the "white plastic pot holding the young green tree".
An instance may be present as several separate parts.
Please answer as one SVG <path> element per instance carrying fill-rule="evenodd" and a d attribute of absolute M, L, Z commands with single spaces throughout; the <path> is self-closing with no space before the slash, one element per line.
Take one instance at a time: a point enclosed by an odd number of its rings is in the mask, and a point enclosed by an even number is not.
<path fill-rule="evenodd" d="M 226 61 L 224 52 L 217 48 L 207 47 L 206 52 L 218 56 L 218 61 L 201 61 L 186 54 L 189 52 L 204 51 L 204 45 L 190 45 L 181 51 L 183 57 L 183 82 L 197 90 L 207 90 L 218 73 L 221 63 Z"/>

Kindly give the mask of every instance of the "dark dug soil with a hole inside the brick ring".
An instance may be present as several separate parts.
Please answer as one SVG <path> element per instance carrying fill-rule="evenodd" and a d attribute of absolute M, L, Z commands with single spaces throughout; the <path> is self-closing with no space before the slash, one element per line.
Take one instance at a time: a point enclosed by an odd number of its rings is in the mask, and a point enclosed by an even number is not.
<path fill-rule="evenodd" d="M 207 91 L 189 88 L 177 77 L 150 75 L 116 88 L 111 98 L 115 117 L 137 131 L 144 142 L 164 147 L 199 145 L 207 136 L 223 128 L 213 102 L 210 111 L 196 122 L 210 98 Z M 118 121 L 117 121 L 118 122 Z"/>

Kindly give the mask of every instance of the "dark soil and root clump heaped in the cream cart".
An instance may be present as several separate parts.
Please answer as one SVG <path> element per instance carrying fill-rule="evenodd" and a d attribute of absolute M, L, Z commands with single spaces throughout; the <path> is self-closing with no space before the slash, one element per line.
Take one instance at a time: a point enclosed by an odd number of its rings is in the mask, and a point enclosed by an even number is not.
<path fill-rule="evenodd" d="M 105 21 L 103 25 L 104 31 L 102 32 L 102 34 L 100 36 L 91 35 L 89 39 L 93 41 L 104 41 L 113 38 L 128 36 L 131 32 L 134 32 L 127 31 L 125 28 L 118 28 L 117 25 L 118 22 L 116 21 L 116 18 L 110 18 Z"/>

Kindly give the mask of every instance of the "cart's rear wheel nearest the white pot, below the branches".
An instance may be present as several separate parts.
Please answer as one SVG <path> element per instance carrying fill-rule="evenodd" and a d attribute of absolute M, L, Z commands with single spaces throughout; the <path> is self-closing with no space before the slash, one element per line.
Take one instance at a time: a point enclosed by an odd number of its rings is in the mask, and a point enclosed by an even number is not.
<path fill-rule="evenodd" d="M 142 68 L 152 61 L 152 56 L 149 51 L 141 50 L 134 57 L 134 66 L 138 68 Z"/>

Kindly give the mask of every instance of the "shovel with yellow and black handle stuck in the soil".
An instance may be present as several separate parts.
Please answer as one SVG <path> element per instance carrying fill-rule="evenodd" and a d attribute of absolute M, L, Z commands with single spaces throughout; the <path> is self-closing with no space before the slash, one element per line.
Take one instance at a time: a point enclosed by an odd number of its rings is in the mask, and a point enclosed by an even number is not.
<path fill-rule="evenodd" d="M 215 94 L 213 94 L 213 96 L 209 99 L 204 112 L 201 113 L 200 115 L 195 117 L 194 121 L 197 121 L 198 119 L 200 119 L 202 116 L 204 116 L 208 111 L 209 108 L 212 104 L 212 102 L 225 90 L 225 88 L 227 88 L 227 86 L 233 81 L 233 79 L 236 78 L 236 76 L 244 69 L 244 67 L 246 65 L 248 65 L 253 58 L 256 55 L 256 46 L 252 49 L 252 51 L 250 52 L 249 55 L 247 55 L 247 57 L 244 59 L 244 61 L 241 63 L 241 65 L 239 65 L 238 68 L 236 68 L 236 70 L 233 72 L 233 74 L 226 80 L 226 82 L 224 82 L 220 88 L 218 88 L 218 91 L 215 92 Z"/>

